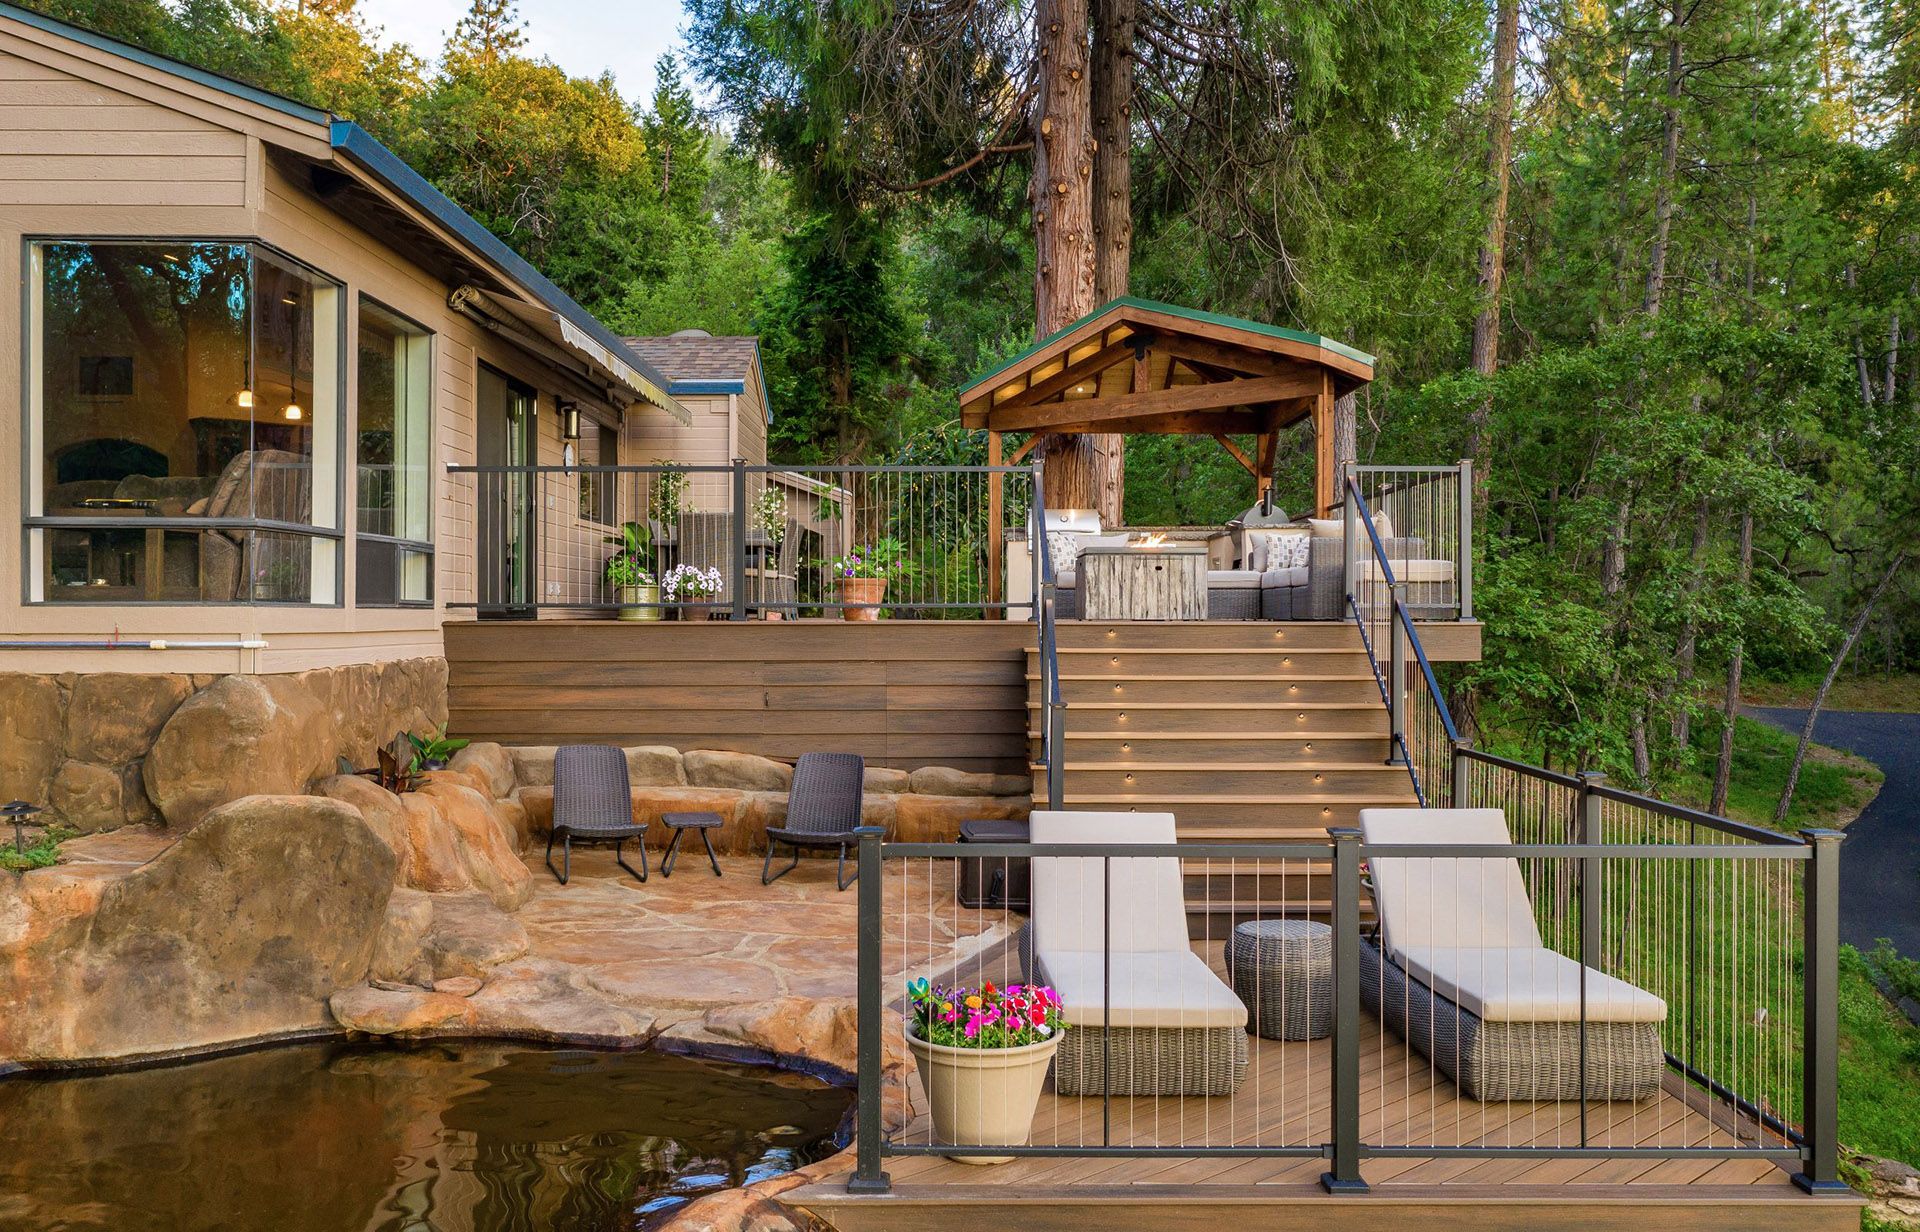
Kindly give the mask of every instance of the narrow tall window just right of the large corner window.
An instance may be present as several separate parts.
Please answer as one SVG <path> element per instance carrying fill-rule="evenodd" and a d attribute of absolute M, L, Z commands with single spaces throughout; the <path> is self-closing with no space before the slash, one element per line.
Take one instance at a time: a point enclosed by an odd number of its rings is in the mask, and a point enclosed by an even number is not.
<path fill-rule="evenodd" d="M 432 336 L 359 301 L 355 601 L 434 601 Z"/>

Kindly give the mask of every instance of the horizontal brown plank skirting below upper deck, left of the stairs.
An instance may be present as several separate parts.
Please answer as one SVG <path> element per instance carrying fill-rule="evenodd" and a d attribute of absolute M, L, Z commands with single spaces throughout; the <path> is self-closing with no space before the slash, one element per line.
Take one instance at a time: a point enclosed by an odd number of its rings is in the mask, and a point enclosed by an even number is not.
<path fill-rule="evenodd" d="M 1025 773 L 1020 622 L 445 626 L 453 727 L 509 745 L 674 745 Z"/>

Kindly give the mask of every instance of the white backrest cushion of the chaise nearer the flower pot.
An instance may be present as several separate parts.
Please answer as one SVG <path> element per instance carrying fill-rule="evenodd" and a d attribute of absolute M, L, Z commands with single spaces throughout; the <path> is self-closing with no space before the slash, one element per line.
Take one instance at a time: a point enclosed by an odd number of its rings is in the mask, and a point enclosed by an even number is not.
<path fill-rule="evenodd" d="M 1035 810 L 1035 842 L 1167 842 L 1173 814 L 1096 814 Z M 1102 862 L 1044 856 L 1033 862 L 1033 942 L 1044 952 L 1098 954 L 1102 946 Z M 1121 856 L 1112 862 L 1112 950 L 1187 952 L 1187 896 L 1173 856 Z"/>

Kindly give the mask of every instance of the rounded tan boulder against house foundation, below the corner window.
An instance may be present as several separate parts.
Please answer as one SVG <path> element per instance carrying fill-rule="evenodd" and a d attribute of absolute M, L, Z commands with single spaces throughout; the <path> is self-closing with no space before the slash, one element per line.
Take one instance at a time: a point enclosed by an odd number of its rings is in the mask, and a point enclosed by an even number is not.
<path fill-rule="evenodd" d="M 332 771 L 332 712 L 298 677 L 223 675 L 180 702 L 146 758 L 167 825 L 252 794 L 298 794 Z"/>

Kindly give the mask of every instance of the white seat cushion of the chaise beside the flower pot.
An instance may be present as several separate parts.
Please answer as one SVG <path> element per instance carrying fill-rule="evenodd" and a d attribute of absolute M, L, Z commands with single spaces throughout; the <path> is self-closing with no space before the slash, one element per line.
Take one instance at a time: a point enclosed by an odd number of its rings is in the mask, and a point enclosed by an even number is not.
<path fill-rule="evenodd" d="M 1098 952 L 1046 950 L 1037 960 L 1039 977 L 1060 994 L 1075 1027 L 1104 1027 L 1108 998 L 1121 1029 L 1246 1027 L 1246 1006 L 1192 950 L 1114 954 L 1112 988 L 1104 988 L 1108 965 Z"/>

